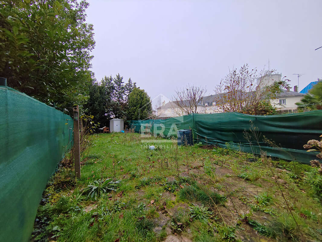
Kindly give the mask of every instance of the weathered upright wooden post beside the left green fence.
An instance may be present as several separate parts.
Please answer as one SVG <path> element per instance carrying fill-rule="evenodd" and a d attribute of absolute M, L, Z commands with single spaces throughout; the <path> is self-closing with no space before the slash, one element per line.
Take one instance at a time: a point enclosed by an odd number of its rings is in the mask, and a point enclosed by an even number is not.
<path fill-rule="evenodd" d="M 74 115 L 74 159 L 75 159 L 75 175 L 81 177 L 81 149 L 80 149 L 80 123 L 78 105 L 73 107 Z"/>

